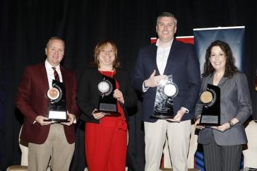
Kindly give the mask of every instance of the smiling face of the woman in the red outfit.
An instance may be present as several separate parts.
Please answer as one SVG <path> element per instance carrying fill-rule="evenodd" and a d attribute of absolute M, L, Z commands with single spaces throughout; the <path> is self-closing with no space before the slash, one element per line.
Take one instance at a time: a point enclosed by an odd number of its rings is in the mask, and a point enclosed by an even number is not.
<path fill-rule="evenodd" d="M 114 59 L 115 59 L 114 48 L 110 43 L 107 43 L 106 46 L 100 49 L 100 53 L 98 55 L 100 68 L 112 67 L 114 64 Z"/>

